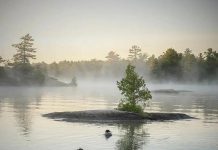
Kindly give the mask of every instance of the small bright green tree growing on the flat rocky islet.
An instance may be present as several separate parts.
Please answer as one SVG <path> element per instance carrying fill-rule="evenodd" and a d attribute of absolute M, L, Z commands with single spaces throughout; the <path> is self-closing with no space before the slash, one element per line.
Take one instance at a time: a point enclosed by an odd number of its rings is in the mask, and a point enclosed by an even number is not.
<path fill-rule="evenodd" d="M 128 65 L 125 77 L 117 82 L 117 86 L 124 96 L 119 105 L 119 110 L 142 113 L 146 101 L 151 99 L 151 93 L 142 77 L 135 72 L 135 67 Z"/>

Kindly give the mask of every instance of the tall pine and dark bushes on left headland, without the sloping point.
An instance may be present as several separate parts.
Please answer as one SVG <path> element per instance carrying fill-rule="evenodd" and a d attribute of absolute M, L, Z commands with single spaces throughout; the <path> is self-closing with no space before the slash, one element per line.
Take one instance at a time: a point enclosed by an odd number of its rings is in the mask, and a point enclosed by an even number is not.
<path fill-rule="evenodd" d="M 0 57 L 0 85 L 42 85 L 45 73 L 38 65 L 31 65 L 30 60 L 35 59 L 33 38 L 29 34 L 21 37 L 21 42 L 13 44 L 17 52 L 13 56 L 13 62 L 5 61 Z"/>

